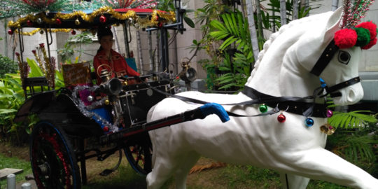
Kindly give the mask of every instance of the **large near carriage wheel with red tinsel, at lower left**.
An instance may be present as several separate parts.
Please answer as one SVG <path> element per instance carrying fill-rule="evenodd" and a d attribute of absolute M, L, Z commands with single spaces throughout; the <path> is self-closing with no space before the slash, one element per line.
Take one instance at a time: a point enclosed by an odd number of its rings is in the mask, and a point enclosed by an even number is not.
<path fill-rule="evenodd" d="M 76 156 L 66 133 L 50 121 L 40 121 L 30 137 L 30 162 L 39 189 L 80 189 Z"/>

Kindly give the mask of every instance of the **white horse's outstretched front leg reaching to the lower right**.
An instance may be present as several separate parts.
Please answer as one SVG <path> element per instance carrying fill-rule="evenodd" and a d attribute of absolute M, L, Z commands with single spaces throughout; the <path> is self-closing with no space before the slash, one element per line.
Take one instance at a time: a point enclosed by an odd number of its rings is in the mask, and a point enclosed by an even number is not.
<path fill-rule="evenodd" d="M 286 169 L 310 179 L 337 183 L 350 188 L 377 189 L 378 180 L 356 165 L 323 148 L 292 153 Z M 290 188 L 291 189 L 291 188 Z"/>

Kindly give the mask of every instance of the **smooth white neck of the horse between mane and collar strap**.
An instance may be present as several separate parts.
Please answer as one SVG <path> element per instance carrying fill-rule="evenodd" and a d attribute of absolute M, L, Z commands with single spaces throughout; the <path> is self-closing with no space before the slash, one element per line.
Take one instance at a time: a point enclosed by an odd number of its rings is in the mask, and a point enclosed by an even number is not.
<path fill-rule="evenodd" d="M 265 52 L 248 87 L 274 97 L 307 97 L 320 87 L 318 77 L 297 60 L 299 37 L 289 33 L 281 34 Z"/>

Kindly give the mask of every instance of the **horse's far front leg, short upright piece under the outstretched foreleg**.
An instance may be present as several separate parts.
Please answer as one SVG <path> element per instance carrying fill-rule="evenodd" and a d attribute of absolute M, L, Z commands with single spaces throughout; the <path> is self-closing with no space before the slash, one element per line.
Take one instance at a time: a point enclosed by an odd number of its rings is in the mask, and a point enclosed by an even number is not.
<path fill-rule="evenodd" d="M 283 189 L 302 189 L 306 188 L 309 184 L 309 178 L 303 176 L 280 173 L 279 177 Z"/>

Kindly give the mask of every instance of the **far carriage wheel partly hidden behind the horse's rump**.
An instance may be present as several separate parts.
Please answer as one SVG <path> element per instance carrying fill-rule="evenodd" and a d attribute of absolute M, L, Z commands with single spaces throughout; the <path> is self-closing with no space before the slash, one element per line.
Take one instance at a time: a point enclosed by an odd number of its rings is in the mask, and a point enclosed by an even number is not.
<path fill-rule="evenodd" d="M 132 169 L 146 176 L 152 172 L 152 143 L 150 136 L 144 134 L 126 141 L 125 155 Z"/>

